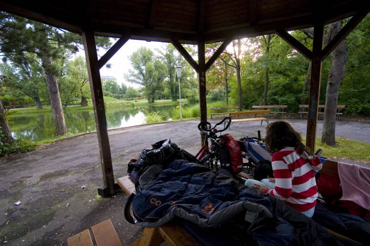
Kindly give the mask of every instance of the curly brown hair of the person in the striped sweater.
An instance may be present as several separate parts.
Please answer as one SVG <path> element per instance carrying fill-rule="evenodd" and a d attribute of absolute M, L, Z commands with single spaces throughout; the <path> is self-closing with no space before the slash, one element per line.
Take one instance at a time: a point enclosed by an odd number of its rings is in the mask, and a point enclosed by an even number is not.
<path fill-rule="evenodd" d="M 285 147 L 294 147 L 299 154 L 304 151 L 312 154 L 311 151 L 302 144 L 302 137 L 293 127 L 284 121 L 269 123 L 266 127 L 266 137 L 264 139 L 267 149 L 270 152 L 279 151 Z"/>

